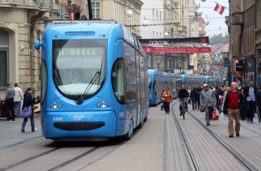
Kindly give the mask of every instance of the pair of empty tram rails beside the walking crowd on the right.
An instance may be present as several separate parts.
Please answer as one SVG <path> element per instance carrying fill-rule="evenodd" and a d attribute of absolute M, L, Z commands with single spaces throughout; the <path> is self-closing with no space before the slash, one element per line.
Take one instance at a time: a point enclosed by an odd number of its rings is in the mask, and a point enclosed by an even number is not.
<path fill-rule="evenodd" d="M 178 102 L 177 102 L 178 103 Z M 176 105 L 177 103 L 174 103 L 174 105 Z M 172 105 L 172 108 L 174 107 L 174 105 Z M 172 111 L 174 111 L 172 109 Z M 221 145 L 223 146 L 228 152 L 229 154 L 231 154 L 234 159 L 236 159 L 236 161 L 238 161 L 238 163 L 241 164 L 241 166 L 243 166 L 246 170 L 258 170 L 257 168 L 255 168 L 251 163 L 249 163 L 249 161 L 247 161 L 246 159 L 244 159 L 239 153 L 236 152 L 236 150 L 234 148 L 232 148 L 231 146 L 229 146 L 229 144 L 227 144 L 224 140 L 220 139 L 220 137 L 218 137 L 218 135 L 216 135 L 216 133 L 214 133 L 214 131 L 212 131 L 209 127 L 205 126 L 205 123 L 202 122 L 200 119 L 196 118 L 196 116 L 194 116 L 193 114 L 190 113 L 190 111 L 187 111 L 186 114 L 189 114 L 190 116 L 192 116 L 192 118 L 194 118 L 194 120 L 196 120 L 196 122 L 198 122 L 199 124 L 201 124 L 201 126 L 210 134 L 212 135 L 212 137 L 214 137 L 214 139 Z M 190 145 L 188 144 L 188 141 L 185 138 L 185 135 L 183 133 L 183 130 L 181 128 L 181 124 L 179 121 L 179 118 L 177 116 L 177 112 L 173 112 L 173 118 L 175 120 L 175 122 L 177 122 L 176 127 L 179 131 L 179 133 L 181 134 L 181 137 L 183 139 L 183 142 L 185 143 L 186 148 L 188 149 L 189 153 L 189 157 L 192 158 L 190 160 L 190 166 L 194 166 L 192 167 L 193 170 L 198 170 L 198 168 L 196 167 L 196 161 L 194 160 L 193 157 L 193 153 L 191 152 L 190 149 Z"/>

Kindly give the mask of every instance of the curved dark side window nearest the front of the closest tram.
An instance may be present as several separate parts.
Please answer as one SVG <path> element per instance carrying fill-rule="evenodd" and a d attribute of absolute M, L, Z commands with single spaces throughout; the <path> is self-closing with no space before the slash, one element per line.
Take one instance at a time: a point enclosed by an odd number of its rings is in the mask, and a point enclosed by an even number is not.
<path fill-rule="evenodd" d="M 124 104 L 124 59 L 119 58 L 113 64 L 113 70 L 111 72 L 111 83 L 113 86 L 113 92 L 117 100 Z"/>

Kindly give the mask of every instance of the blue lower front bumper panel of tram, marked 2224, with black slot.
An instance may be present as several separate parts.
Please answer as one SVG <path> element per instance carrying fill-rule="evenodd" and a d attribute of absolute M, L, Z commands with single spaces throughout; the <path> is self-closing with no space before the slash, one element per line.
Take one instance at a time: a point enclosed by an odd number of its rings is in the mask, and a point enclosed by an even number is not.
<path fill-rule="evenodd" d="M 48 112 L 41 121 L 43 136 L 58 137 L 115 137 L 114 111 Z"/>

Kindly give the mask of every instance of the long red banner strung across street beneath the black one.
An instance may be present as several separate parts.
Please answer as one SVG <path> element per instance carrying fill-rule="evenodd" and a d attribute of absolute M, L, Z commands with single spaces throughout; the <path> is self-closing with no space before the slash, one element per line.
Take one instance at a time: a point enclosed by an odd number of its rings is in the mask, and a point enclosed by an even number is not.
<path fill-rule="evenodd" d="M 143 47 L 146 53 L 211 53 L 211 47 Z"/>

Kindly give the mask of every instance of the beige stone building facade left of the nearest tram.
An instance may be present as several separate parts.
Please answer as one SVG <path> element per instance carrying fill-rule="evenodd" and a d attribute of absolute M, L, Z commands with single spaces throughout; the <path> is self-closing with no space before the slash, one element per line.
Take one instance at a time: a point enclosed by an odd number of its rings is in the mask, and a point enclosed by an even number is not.
<path fill-rule="evenodd" d="M 0 98 L 5 96 L 6 83 L 19 83 L 23 91 L 30 87 L 34 96 L 40 94 L 41 51 L 34 49 L 34 40 L 41 40 L 48 22 L 69 18 L 75 10 L 83 13 L 86 4 L 80 0 L 0 1 Z"/>

